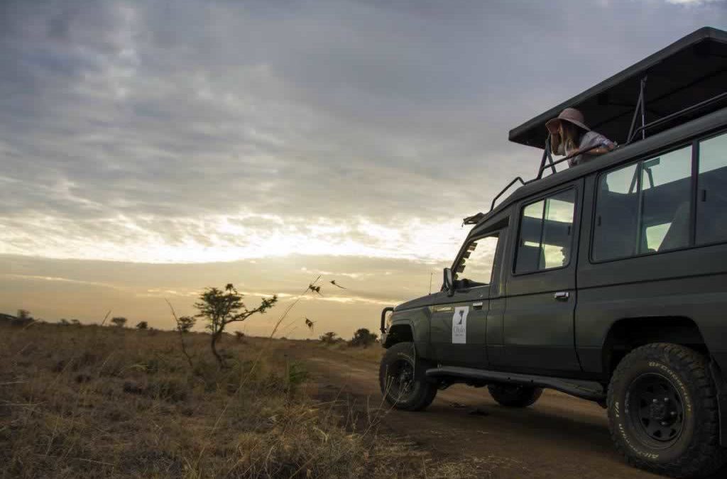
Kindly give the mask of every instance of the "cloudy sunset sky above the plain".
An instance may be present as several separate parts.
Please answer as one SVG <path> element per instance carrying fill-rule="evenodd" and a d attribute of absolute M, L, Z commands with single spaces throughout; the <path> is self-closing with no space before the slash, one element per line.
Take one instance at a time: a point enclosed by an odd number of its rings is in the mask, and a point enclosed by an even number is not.
<path fill-rule="evenodd" d="M 725 1 L 0 2 L 0 312 L 171 327 L 320 274 L 289 336 L 375 329 L 534 175 L 510 129 L 704 25 Z"/>

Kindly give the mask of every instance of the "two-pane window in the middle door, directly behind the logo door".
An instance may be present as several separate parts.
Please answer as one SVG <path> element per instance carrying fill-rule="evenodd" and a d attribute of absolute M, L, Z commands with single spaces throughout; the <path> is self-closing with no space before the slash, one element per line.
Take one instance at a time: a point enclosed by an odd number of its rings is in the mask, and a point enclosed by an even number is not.
<path fill-rule="evenodd" d="M 515 274 L 568 265 L 575 205 L 576 190 L 571 188 L 523 208 Z"/>

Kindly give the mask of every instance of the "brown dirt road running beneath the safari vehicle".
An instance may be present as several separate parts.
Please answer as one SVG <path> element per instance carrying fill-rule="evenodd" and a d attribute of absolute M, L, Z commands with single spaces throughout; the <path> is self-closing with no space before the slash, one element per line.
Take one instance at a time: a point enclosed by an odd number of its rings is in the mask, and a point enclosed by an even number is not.
<path fill-rule="evenodd" d="M 290 342 L 288 354 L 308 365 L 321 390 L 340 390 L 361 407 L 381 406 L 374 361 L 305 342 Z M 455 385 L 426 411 L 390 411 L 383 424 L 435 453 L 481 459 L 485 477 L 659 477 L 627 466 L 616 454 L 605 410 L 553 391 L 530 408 L 512 409 L 495 403 L 485 388 Z"/>

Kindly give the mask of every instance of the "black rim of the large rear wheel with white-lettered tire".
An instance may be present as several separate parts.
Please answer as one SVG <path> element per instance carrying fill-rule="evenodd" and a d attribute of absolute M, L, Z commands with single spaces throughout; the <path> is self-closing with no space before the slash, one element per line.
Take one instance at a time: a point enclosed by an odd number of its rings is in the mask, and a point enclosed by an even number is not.
<path fill-rule="evenodd" d="M 651 448 L 675 443 L 684 427 L 683 399 L 667 377 L 643 374 L 630 385 L 627 414 L 638 438 Z"/>

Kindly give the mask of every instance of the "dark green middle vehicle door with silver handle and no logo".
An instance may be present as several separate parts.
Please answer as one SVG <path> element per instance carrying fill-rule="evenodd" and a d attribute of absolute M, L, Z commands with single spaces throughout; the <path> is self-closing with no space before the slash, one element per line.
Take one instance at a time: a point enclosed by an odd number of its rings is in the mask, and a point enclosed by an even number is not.
<path fill-rule="evenodd" d="M 576 265 L 583 180 L 516 206 L 510 243 L 501 366 L 557 374 L 579 371 L 574 344 Z"/>

